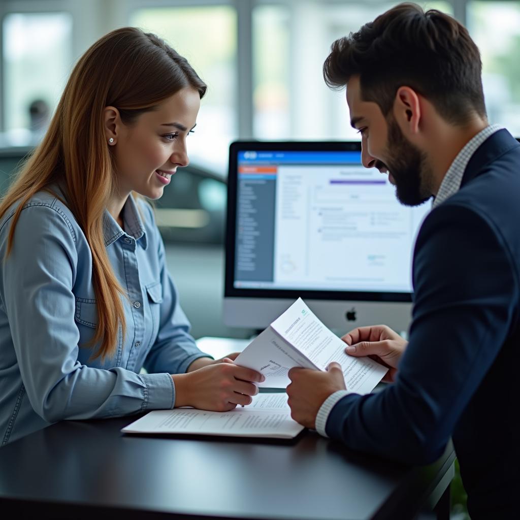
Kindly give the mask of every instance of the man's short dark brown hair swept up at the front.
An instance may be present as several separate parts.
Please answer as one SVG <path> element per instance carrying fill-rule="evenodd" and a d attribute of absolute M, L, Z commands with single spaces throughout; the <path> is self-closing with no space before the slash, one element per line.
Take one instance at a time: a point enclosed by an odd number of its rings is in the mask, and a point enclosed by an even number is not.
<path fill-rule="evenodd" d="M 336 40 L 323 63 L 331 88 L 359 75 L 361 98 L 391 111 L 397 90 L 413 88 L 452 124 L 476 112 L 486 116 L 482 62 L 475 42 L 457 20 L 416 4 L 389 9 L 356 33 Z"/>

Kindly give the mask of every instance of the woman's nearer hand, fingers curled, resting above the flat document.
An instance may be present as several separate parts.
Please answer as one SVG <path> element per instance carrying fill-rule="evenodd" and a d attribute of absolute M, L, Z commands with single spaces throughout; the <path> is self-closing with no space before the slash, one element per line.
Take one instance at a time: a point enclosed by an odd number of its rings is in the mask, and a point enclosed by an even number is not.
<path fill-rule="evenodd" d="M 235 354 L 237 357 L 238 353 Z M 211 361 L 185 374 L 173 374 L 172 378 L 176 408 L 192 406 L 219 412 L 251 404 L 250 396 L 258 393 L 258 387 L 253 383 L 265 380 L 261 373 L 235 365 L 231 357 Z"/>

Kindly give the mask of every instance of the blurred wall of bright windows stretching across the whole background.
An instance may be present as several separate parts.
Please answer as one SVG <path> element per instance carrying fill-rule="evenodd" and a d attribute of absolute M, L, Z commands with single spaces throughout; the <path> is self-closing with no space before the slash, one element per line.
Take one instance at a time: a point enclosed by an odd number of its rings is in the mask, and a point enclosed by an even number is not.
<path fill-rule="evenodd" d="M 3 18 L 1 129 L 11 142 L 27 138 L 32 101 L 43 100 L 54 110 L 73 56 L 110 29 L 132 24 L 164 37 L 208 84 L 188 146 L 195 165 L 219 175 L 226 174 L 228 145 L 237 138 L 358 139 L 349 125 L 345 93 L 332 92 L 323 82 L 323 61 L 336 38 L 398 3 L 127 0 L 121 9 L 109 2 L 93 9 L 86 2 L 57 2 L 34 2 L 41 13 L 30 12 L 24 2 L 25 12 L 8 11 Z M 418 3 L 467 25 L 482 53 L 489 119 L 520 135 L 520 0 Z M 22 3 L 0 4 L 0 14 L 3 5 L 17 9 Z M 62 12 L 69 5 L 70 12 Z M 249 35 L 251 53 L 243 50 L 244 33 L 240 48 L 238 39 L 239 20 L 248 17 L 251 34 L 246 27 L 245 42 Z M 72 32 L 73 19 L 81 21 L 81 31 Z"/>

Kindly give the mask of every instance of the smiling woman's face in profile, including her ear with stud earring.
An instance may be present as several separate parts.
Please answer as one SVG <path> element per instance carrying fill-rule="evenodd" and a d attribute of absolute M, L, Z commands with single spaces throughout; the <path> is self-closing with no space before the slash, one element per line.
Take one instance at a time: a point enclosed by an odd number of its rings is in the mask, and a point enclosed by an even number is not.
<path fill-rule="evenodd" d="M 199 108 L 199 92 L 191 87 L 179 90 L 128 126 L 113 109 L 110 124 L 111 107 L 107 107 L 107 139 L 114 139 L 119 196 L 136 191 L 149 199 L 162 197 L 177 168 L 189 163 L 186 138 Z"/>

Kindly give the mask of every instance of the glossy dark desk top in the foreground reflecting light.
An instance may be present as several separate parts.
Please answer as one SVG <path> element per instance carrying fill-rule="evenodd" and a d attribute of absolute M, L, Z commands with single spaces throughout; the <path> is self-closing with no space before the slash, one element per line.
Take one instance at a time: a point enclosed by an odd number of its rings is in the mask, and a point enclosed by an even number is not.
<path fill-rule="evenodd" d="M 412 518 L 452 466 L 293 444 L 123 435 L 135 418 L 64 421 L 0 448 L 0 503 L 20 517 Z M 438 486 L 437 486 L 438 487 Z"/>

